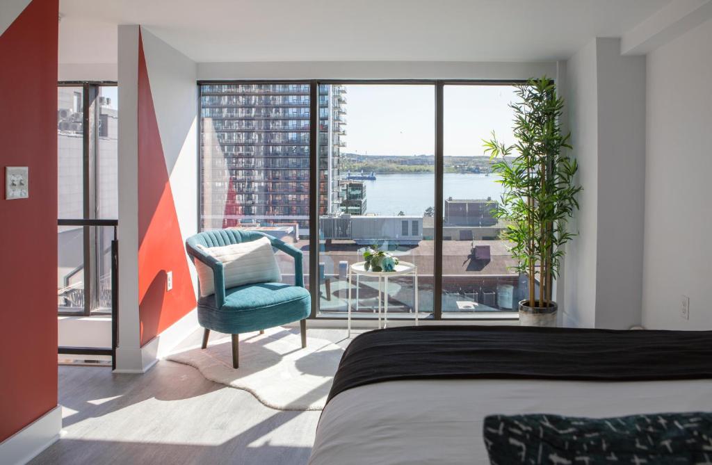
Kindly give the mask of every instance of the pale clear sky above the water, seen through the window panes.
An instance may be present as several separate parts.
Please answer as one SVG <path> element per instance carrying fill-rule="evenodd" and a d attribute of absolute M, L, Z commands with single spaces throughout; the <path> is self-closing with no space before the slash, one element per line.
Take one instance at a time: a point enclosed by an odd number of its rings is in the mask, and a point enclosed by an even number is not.
<path fill-rule="evenodd" d="M 509 85 L 446 85 L 444 155 L 483 155 L 482 139 L 494 130 L 508 144 L 515 99 Z M 434 85 L 346 85 L 342 152 L 359 155 L 433 155 Z"/>

